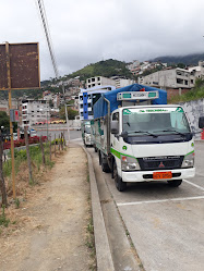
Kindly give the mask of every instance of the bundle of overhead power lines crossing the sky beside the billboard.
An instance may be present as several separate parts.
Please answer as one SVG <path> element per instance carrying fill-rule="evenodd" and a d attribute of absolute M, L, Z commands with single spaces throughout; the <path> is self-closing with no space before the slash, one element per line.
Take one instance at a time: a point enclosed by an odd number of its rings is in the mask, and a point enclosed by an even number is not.
<path fill-rule="evenodd" d="M 49 33 L 48 22 L 47 22 L 47 17 L 46 17 L 46 10 L 45 10 L 45 5 L 44 5 L 44 0 L 37 0 L 37 4 L 38 4 L 38 8 L 39 8 L 39 13 L 40 13 L 40 17 L 41 17 L 46 39 L 47 39 L 47 45 L 48 45 L 48 49 L 49 49 L 53 71 L 55 71 L 56 77 L 58 78 L 59 73 L 58 73 L 58 67 L 57 67 L 57 64 L 56 64 L 53 47 L 52 47 L 52 44 L 51 44 L 51 36 L 50 36 L 50 33 Z"/>

